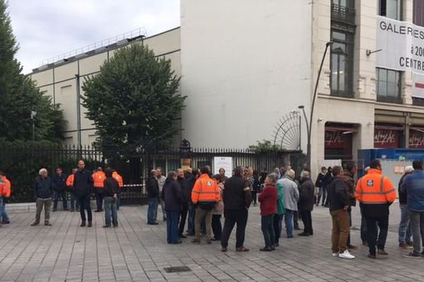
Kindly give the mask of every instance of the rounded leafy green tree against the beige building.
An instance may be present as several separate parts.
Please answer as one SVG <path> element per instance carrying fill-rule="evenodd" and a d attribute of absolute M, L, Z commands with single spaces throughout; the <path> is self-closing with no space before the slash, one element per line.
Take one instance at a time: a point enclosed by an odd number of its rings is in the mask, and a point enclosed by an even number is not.
<path fill-rule="evenodd" d="M 170 60 L 158 59 L 143 44 L 115 52 L 100 73 L 85 80 L 83 106 L 94 121 L 99 145 L 126 150 L 168 147 L 184 109 L 179 78 Z"/>

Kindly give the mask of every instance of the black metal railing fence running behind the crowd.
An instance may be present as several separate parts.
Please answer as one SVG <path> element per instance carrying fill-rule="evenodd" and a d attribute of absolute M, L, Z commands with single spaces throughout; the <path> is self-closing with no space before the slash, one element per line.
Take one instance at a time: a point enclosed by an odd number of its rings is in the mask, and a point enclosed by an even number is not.
<path fill-rule="evenodd" d="M 86 168 L 110 166 L 124 178 L 122 203 L 136 204 L 146 202 L 145 179 L 152 168 L 161 167 L 166 175 L 182 166 L 182 159 L 190 160 L 192 168 L 211 166 L 214 170 L 215 157 L 231 157 L 232 166 L 251 166 L 263 171 L 292 164 L 301 166 L 300 152 L 258 153 L 248 149 L 168 149 L 163 152 L 132 152 L 125 156 L 117 149 L 100 151 L 95 147 L 0 147 L 0 169 L 11 180 L 11 202 L 33 201 L 33 181 L 40 168 L 47 168 L 50 176 L 57 167 L 69 174 L 76 168 L 79 159 L 86 162 Z"/>

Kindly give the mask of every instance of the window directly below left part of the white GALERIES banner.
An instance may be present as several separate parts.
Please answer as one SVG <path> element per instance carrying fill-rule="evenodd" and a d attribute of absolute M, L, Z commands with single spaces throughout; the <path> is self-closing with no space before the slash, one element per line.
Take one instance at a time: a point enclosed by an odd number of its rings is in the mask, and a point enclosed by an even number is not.
<path fill-rule="evenodd" d="M 376 68 L 377 101 L 401 103 L 401 72 Z"/>

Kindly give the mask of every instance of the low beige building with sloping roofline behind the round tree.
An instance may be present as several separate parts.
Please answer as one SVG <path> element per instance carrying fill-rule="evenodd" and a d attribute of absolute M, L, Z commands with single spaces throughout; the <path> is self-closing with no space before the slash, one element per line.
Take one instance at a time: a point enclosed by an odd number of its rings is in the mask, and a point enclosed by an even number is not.
<path fill-rule="evenodd" d="M 49 63 L 30 73 L 43 94 L 52 97 L 54 104 L 60 104 L 66 121 L 65 145 L 92 145 L 96 139 L 95 126 L 86 118 L 86 109 L 81 105 L 84 95 L 82 86 L 86 78 L 100 72 L 102 63 L 110 59 L 117 48 L 128 44 L 146 44 L 158 57 L 172 62 L 175 75 L 181 75 L 179 27 L 151 37 L 129 37 L 98 47 L 82 54 Z M 178 137 L 177 137 L 178 138 Z"/>

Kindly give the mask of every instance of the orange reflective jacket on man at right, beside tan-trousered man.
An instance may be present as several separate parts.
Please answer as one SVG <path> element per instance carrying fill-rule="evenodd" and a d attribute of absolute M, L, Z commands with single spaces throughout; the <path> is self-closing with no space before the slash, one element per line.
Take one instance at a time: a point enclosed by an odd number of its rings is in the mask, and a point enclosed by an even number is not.
<path fill-rule="evenodd" d="M 371 168 L 358 180 L 355 198 L 363 204 L 387 204 L 396 199 L 396 190 L 391 180 L 382 175 L 382 171 Z"/>

